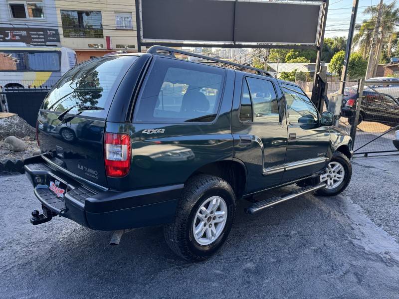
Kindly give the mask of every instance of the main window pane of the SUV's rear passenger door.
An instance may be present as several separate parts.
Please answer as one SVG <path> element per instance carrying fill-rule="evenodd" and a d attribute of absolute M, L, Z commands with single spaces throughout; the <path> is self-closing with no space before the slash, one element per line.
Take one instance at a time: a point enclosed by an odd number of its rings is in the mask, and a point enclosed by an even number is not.
<path fill-rule="evenodd" d="M 253 122 L 278 123 L 277 95 L 273 83 L 268 80 L 246 78 L 253 107 Z"/>

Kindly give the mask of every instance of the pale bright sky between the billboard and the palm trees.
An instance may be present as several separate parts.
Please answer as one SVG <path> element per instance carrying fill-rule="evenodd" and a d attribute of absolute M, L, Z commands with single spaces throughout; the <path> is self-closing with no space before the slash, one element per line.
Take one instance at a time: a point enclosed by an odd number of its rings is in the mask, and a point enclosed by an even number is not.
<path fill-rule="evenodd" d="M 393 0 L 384 0 L 384 3 L 391 3 Z M 327 14 L 327 24 L 325 37 L 348 36 L 349 25 L 351 22 L 353 0 L 330 0 Z M 380 0 L 359 0 L 358 14 L 356 23 L 362 23 L 370 15 L 363 11 L 367 6 L 378 5 Z"/>

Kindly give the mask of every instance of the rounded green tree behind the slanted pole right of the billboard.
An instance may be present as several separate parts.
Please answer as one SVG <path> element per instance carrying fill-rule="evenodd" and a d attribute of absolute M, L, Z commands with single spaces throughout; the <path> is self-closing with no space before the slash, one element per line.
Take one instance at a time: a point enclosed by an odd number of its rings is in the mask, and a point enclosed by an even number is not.
<path fill-rule="evenodd" d="M 328 65 L 330 72 L 338 76 L 342 74 L 344 66 L 345 51 L 335 53 Z M 349 76 L 364 76 L 366 74 L 367 61 L 362 57 L 362 54 L 353 52 L 349 58 L 348 75 Z"/>

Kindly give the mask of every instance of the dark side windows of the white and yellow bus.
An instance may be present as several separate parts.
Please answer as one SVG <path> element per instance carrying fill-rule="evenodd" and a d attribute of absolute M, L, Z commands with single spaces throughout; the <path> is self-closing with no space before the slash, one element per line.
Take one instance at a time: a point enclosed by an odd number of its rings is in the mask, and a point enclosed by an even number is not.
<path fill-rule="evenodd" d="M 60 52 L 0 52 L 0 71 L 59 71 Z"/>

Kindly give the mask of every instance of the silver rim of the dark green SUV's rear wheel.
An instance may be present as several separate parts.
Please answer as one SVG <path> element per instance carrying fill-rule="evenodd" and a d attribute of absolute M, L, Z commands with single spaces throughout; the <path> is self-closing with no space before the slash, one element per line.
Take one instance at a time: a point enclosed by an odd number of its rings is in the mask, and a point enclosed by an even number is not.
<path fill-rule="evenodd" d="M 223 232 L 227 220 L 227 205 L 220 196 L 206 199 L 198 208 L 193 222 L 193 234 L 202 246 L 213 243 Z"/>

